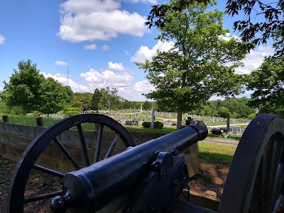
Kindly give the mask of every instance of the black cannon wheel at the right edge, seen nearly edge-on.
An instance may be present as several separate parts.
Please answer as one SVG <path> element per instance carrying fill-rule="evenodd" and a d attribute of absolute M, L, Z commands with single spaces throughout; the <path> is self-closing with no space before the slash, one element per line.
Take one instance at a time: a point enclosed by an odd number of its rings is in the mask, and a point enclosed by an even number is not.
<path fill-rule="evenodd" d="M 284 121 L 260 114 L 236 148 L 219 212 L 283 212 Z M 281 209 L 282 208 L 282 209 Z"/>

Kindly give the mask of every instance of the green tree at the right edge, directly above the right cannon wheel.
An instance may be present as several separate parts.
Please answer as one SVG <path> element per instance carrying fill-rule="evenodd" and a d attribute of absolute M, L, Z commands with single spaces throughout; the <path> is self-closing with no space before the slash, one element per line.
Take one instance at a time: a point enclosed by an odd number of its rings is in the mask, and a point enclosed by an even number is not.
<path fill-rule="evenodd" d="M 253 90 L 251 106 L 261 113 L 284 116 L 284 55 L 266 58 L 261 67 L 251 72 L 248 89 Z"/>

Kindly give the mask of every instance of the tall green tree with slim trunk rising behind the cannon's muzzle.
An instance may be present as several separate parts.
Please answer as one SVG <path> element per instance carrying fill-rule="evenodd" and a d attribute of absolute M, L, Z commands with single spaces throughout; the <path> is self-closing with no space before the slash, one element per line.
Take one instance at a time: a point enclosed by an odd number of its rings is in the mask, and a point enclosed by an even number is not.
<path fill-rule="evenodd" d="M 239 41 L 228 37 L 222 28 L 224 13 L 207 11 L 207 6 L 198 3 L 182 11 L 168 11 L 158 39 L 174 41 L 175 46 L 168 52 L 158 51 L 152 61 L 137 63 L 156 88 L 146 97 L 175 107 L 178 129 L 182 111 L 197 109 L 213 94 L 238 94 L 244 80 L 234 73 L 244 53 Z"/>

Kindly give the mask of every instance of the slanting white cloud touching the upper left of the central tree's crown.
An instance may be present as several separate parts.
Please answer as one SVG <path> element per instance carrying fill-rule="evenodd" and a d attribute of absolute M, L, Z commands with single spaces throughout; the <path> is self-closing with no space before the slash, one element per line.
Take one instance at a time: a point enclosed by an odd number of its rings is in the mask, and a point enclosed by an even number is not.
<path fill-rule="evenodd" d="M 149 49 L 147 46 L 141 46 L 139 50 L 131 57 L 132 62 L 145 62 L 145 60 L 152 60 L 153 56 L 157 55 L 157 50 L 168 51 L 173 48 L 173 41 L 161 41 L 158 40 L 158 43 L 153 46 L 152 49 Z"/>

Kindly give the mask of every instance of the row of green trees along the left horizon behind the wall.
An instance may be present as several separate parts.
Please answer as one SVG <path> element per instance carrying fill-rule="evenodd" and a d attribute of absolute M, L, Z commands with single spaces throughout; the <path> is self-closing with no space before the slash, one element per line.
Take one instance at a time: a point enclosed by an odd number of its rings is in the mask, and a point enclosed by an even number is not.
<path fill-rule="evenodd" d="M 4 82 L 0 92 L 2 111 L 26 115 L 36 111 L 55 114 L 62 109 L 69 114 L 99 109 L 140 109 L 141 103 L 130 102 L 118 95 L 115 88 L 95 89 L 91 92 L 72 92 L 69 86 L 62 86 L 52 77 L 45 78 L 31 60 L 18 62 L 9 82 Z M 9 109 L 6 109 L 6 107 Z M 150 109 L 151 103 L 144 102 L 143 109 Z"/>

